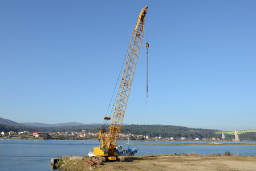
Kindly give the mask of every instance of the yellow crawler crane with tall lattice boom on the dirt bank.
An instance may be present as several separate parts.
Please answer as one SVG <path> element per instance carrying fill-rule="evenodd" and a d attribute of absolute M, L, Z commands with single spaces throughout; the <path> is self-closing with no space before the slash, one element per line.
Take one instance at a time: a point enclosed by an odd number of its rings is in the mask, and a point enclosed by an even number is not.
<path fill-rule="evenodd" d="M 145 6 L 137 19 L 136 26 L 132 32 L 131 42 L 127 53 L 127 58 L 124 66 L 123 76 L 121 79 L 115 111 L 113 113 L 112 123 L 109 127 L 108 136 L 105 129 L 101 129 L 99 132 L 99 146 L 94 147 L 94 156 L 100 161 L 107 160 L 119 160 L 124 161 L 123 156 L 117 157 L 116 141 L 119 137 L 121 126 L 124 119 L 124 112 L 127 105 L 129 92 L 132 86 L 132 80 L 135 73 L 137 60 L 140 53 L 140 47 L 143 40 L 144 21 L 147 13 L 148 6 Z M 110 117 L 104 117 L 104 120 L 110 120 Z"/>

